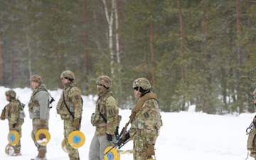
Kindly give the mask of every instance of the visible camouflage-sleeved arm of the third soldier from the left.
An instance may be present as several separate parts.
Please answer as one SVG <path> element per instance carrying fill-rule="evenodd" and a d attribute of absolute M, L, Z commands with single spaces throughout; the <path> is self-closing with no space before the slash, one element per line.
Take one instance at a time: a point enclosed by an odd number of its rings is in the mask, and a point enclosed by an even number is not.
<path fill-rule="evenodd" d="M 75 119 L 82 118 L 82 100 L 81 100 L 81 91 L 78 87 L 72 87 L 69 94 L 71 102 L 73 102 L 73 105 L 75 107 Z"/>

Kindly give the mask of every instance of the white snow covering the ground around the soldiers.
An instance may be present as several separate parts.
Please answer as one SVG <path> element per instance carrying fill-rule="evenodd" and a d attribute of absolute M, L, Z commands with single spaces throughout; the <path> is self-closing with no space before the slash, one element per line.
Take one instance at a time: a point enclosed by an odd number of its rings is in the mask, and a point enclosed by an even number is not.
<path fill-rule="evenodd" d="M 9 88 L 0 87 L 1 109 L 8 104 L 4 93 Z M 26 104 L 25 123 L 22 127 L 21 153 L 22 156 L 12 157 L 5 154 L 9 133 L 8 120 L 1 121 L 0 132 L 0 159 L 1 160 L 28 160 L 37 156 L 38 151 L 31 139 L 32 120 L 28 116 L 28 102 L 32 93 L 31 88 L 14 88 L 21 102 Z M 60 98 L 61 89 L 49 90 L 53 96 L 53 109 L 50 110 L 49 132 L 50 142 L 47 144 L 48 160 L 69 159 L 68 154 L 61 148 L 63 140 L 63 121 L 56 114 L 55 106 Z M 131 95 L 133 92 L 131 91 Z M 85 134 L 85 144 L 79 148 L 80 159 L 88 159 L 90 141 L 95 127 L 90 124 L 90 116 L 95 110 L 95 96 L 82 96 L 84 107 L 82 112 L 81 132 Z M 195 112 L 192 106 L 189 112 L 161 112 L 164 126 L 161 127 L 160 136 L 156 142 L 156 159 L 178 160 L 241 160 L 247 156 L 247 135 L 245 129 L 249 127 L 255 114 L 213 115 Z M 122 115 L 120 128 L 129 120 L 130 110 L 119 110 Z M 129 126 L 130 127 L 130 126 Z M 128 128 L 129 128 L 128 127 Z M 132 149 L 132 142 L 128 142 L 122 150 Z M 122 160 L 133 159 L 132 154 L 121 154 Z M 249 156 L 248 160 L 252 160 Z"/>

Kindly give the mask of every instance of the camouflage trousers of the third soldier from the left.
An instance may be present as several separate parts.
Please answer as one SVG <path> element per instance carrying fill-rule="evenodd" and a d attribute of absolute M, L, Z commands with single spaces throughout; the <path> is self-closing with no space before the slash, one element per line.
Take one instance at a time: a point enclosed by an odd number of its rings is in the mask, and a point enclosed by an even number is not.
<path fill-rule="evenodd" d="M 73 118 L 64 119 L 64 138 L 65 138 L 65 146 L 67 147 L 68 156 L 70 160 L 79 160 L 79 152 L 78 149 L 74 149 L 68 143 L 68 136 L 73 132 Z"/>

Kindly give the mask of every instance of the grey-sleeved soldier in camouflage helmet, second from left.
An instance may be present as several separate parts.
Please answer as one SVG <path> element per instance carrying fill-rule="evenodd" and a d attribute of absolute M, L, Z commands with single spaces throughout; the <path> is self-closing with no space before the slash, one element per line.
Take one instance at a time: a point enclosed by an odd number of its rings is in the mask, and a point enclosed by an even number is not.
<path fill-rule="evenodd" d="M 46 85 L 42 84 L 41 75 L 32 75 L 30 82 L 33 87 L 31 100 L 28 102 L 29 117 L 32 119 L 33 126 L 31 137 L 38 149 L 38 156 L 31 160 L 46 160 L 46 145 L 40 145 L 36 142 L 36 132 L 39 129 L 48 130 L 50 117 L 49 94 Z"/>

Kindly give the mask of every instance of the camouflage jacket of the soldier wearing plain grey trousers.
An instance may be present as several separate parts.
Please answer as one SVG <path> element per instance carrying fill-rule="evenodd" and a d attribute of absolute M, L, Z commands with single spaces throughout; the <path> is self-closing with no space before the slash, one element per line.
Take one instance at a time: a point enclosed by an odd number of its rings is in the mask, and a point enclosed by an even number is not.
<path fill-rule="evenodd" d="M 113 97 L 111 90 L 105 90 L 98 96 L 95 113 L 91 117 L 91 123 L 96 127 L 95 135 L 113 135 L 119 125 L 117 100 Z M 100 116 L 100 112 L 107 122 Z"/>

